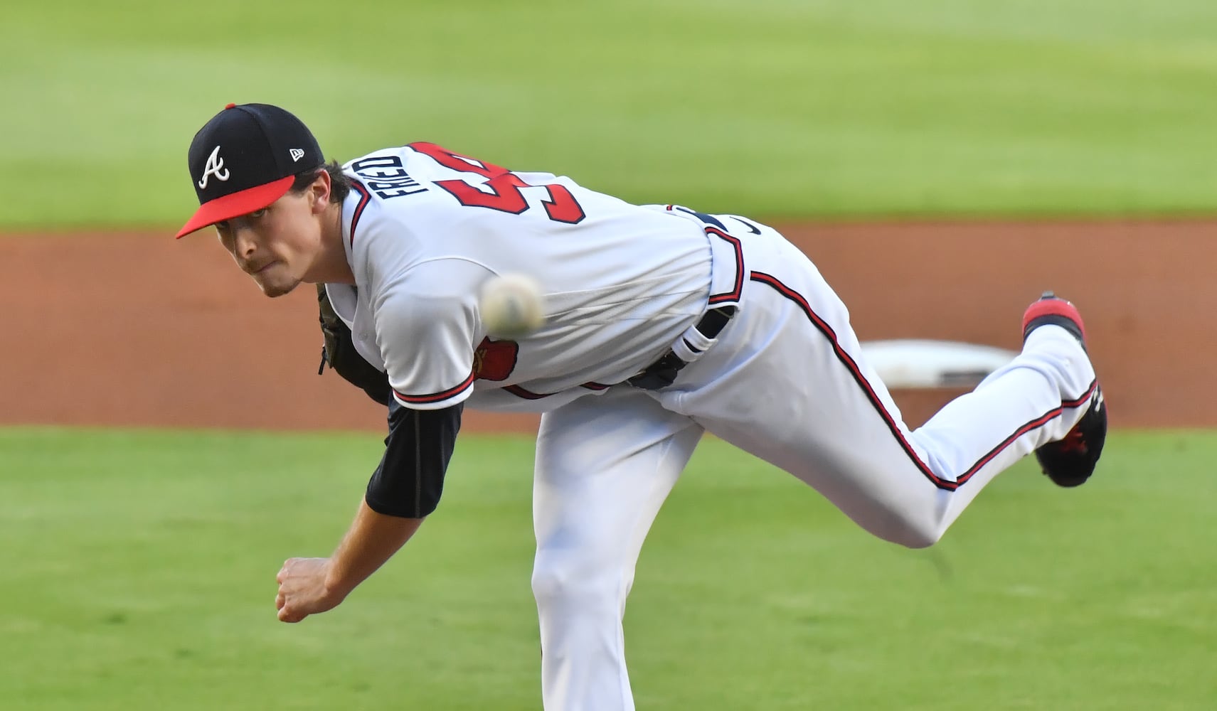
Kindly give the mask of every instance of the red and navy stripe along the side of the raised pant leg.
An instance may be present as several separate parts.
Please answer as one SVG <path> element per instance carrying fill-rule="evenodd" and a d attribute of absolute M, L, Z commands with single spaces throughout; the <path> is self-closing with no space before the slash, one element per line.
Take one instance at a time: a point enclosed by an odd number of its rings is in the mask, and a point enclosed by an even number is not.
<path fill-rule="evenodd" d="M 824 319 L 821 319 L 819 315 L 815 314 L 814 310 L 812 310 L 812 307 L 807 302 L 807 299 L 803 298 L 803 296 L 797 291 L 795 291 L 793 289 L 783 284 L 776 276 L 764 274 L 762 271 L 752 271 L 751 280 L 759 281 L 761 284 L 768 284 L 774 290 L 776 290 L 778 293 L 795 302 L 798 306 L 800 310 L 802 310 L 803 314 L 808 318 L 808 320 L 812 321 L 812 325 L 814 325 L 817 330 L 819 330 L 821 334 L 824 334 L 825 337 L 828 337 L 829 342 L 832 343 L 832 351 L 836 353 L 837 359 L 849 370 L 849 374 L 853 376 L 853 380 L 867 393 L 867 399 L 870 401 L 871 407 L 874 407 L 875 410 L 879 413 L 879 415 L 884 419 L 884 424 L 887 425 L 887 429 L 891 431 L 892 436 L 894 436 L 897 441 L 899 441 L 901 448 L 904 449 L 904 453 L 908 455 L 909 459 L 913 460 L 913 464 L 916 465 L 918 470 L 920 470 L 921 474 L 933 483 L 933 486 L 941 489 L 952 492 L 955 491 L 957 488 L 966 483 L 968 480 L 971 478 L 974 474 L 976 474 L 977 471 L 980 471 L 981 468 L 992 461 L 993 458 L 998 455 L 998 453 L 1009 447 L 1019 437 L 1022 437 L 1023 435 L 1034 430 L 1036 427 L 1042 427 L 1047 425 L 1066 409 L 1081 407 L 1087 402 L 1089 402 L 1090 397 L 1094 394 L 1095 387 L 1098 387 L 1098 381 L 1092 382 L 1090 386 L 1087 388 L 1086 394 L 1083 394 L 1082 397 L 1062 402 L 1060 407 L 1053 408 L 1051 410 L 1044 413 L 1043 415 L 1020 426 L 1017 430 L 1015 430 L 1013 435 L 1003 440 L 1000 444 L 991 449 L 987 454 L 985 454 L 985 457 L 981 457 L 981 459 L 976 461 L 976 464 L 971 465 L 970 468 L 968 468 L 966 471 L 959 475 L 959 478 L 957 481 L 948 481 L 936 475 L 925 461 L 921 461 L 921 458 L 918 457 L 916 450 L 913 449 L 913 446 L 909 444 L 908 440 L 904 437 L 904 433 L 901 432 L 899 426 L 896 424 L 896 419 L 892 418 L 891 413 L 887 412 L 887 408 L 884 407 L 882 401 L 879 399 L 879 394 L 875 393 L 875 388 L 871 387 L 871 385 L 867 381 L 865 376 L 863 376 L 862 369 L 858 368 L 858 363 L 848 353 L 845 352 L 845 348 L 842 348 L 841 343 L 837 342 L 836 332 L 832 330 L 831 326 L 828 325 L 828 323 L 824 321 Z"/>

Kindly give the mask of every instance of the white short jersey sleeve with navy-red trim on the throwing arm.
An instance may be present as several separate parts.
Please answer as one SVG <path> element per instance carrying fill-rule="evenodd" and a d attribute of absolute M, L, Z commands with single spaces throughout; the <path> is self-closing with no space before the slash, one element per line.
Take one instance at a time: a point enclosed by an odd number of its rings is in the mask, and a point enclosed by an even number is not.
<path fill-rule="evenodd" d="M 461 259 L 414 267 L 372 304 L 393 398 L 416 410 L 464 402 L 473 390 L 477 292 L 489 271 Z"/>

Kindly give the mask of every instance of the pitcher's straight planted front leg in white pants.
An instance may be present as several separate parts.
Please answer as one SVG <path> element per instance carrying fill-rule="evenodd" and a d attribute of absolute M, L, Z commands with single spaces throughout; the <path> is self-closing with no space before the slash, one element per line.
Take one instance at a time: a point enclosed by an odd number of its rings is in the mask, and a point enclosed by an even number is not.
<path fill-rule="evenodd" d="M 634 709 L 626 598 L 643 539 L 701 435 L 689 418 L 629 387 L 543 415 L 533 593 L 546 711 Z"/>

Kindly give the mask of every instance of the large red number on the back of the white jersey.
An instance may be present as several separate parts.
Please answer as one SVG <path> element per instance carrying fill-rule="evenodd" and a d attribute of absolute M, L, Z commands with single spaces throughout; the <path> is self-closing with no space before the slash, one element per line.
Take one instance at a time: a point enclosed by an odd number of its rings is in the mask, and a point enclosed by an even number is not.
<path fill-rule="evenodd" d="M 477 173 L 487 181 L 483 183 L 490 192 L 483 192 L 465 183 L 464 180 L 437 180 L 436 185 L 443 187 L 456 198 L 458 202 L 470 207 L 489 207 L 500 212 L 520 214 L 528 209 L 528 201 L 521 187 L 544 187 L 549 192 L 549 200 L 542 200 L 545 206 L 545 214 L 549 219 L 567 224 L 578 224 L 585 215 L 579 202 L 574 200 L 571 191 L 565 185 L 529 185 L 506 168 L 500 168 L 493 163 L 483 163 L 476 158 L 454 153 L 448 149 L 442 149 L 436 144 L 416 142 L 410 144 L 410 149 L 434 158 L 444 168 L 460 170 L 462 173 Z"/>

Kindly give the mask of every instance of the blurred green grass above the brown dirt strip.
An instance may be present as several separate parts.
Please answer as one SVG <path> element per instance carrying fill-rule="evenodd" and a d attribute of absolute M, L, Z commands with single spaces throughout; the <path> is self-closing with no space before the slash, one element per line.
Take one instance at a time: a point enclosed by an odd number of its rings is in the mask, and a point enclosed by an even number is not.
<path fill-rule="evenodd" d="M 756 217 L 1212 213 L 1215 80 L 1211 0 L 26 2 L 0 231 L 175 226 L 228 101 Z"/>

